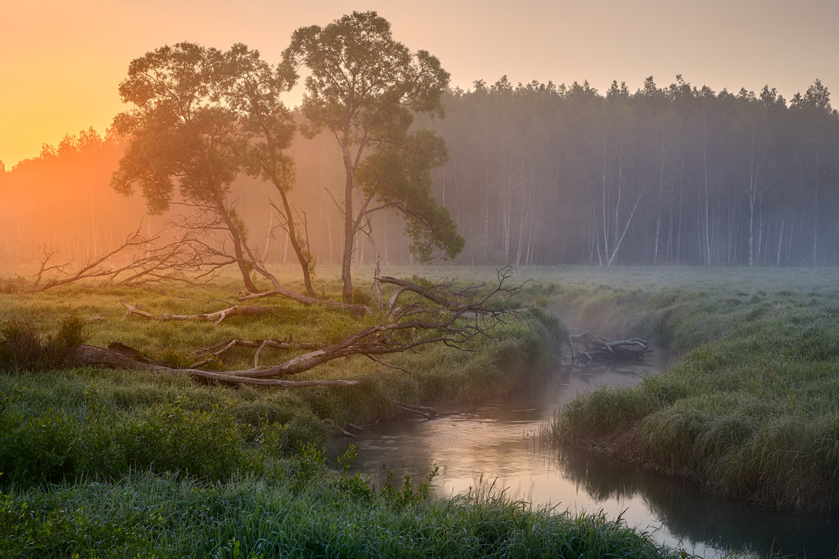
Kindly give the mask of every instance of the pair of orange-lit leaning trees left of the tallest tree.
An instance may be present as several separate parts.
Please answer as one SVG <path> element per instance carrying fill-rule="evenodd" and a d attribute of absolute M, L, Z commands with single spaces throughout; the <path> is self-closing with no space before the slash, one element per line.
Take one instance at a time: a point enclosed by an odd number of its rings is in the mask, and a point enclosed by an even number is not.
<path fill-rule="evenodd" d="M 294 136 L 294 123 L 279 95 L 293 85 L 294 75 L 283 70 L 272 69 L 243 44 L 224 53 L 180 43 L 133 60 L 120 95 L 134 108 L 114 120 L 130 142 L 112 185 L 122 194 L 139 186 L 149 212 L 159 214 L 172 203 L 177 183 L 182 203 L 191 210 L 180 225 L 194 233 L 211 265 L 236 265 L 248 291 L 257 292 L 252 270 L 275 278 L 248 246 L 244 220 L 229 194 L 244 171 L 267 179 L 283 200 L 279 213 L 306 289 L 315 297 L 311 257 L 287 198 L 294 166 L 284 150 Z"/>

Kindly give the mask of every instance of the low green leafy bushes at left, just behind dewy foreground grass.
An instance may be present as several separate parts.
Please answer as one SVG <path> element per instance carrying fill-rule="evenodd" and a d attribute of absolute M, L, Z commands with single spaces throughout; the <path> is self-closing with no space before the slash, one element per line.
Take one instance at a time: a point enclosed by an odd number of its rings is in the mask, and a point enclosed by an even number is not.
<path fill-rule="evenodd" d="M 22 391 L 0 400 L 0 484 L 60 483 L 81 478 L 120 479 L 132 470 L 178 472 L 223 480 L 237 472 L 271 475 L 279 458 L 319 437 L 298 423 L 256 422 L 227 406 L 197 409 L 188 397 L 151 406 L 113 408 L 95 387 L 86 405 L 30 410 Z"/>

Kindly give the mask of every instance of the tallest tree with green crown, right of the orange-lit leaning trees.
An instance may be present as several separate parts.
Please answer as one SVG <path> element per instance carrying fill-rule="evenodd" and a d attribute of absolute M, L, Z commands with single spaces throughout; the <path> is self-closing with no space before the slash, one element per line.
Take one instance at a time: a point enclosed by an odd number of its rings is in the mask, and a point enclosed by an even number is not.
<path fill-rule="evenodd" d="M 443 160 L 442 144 L 431 142 L 429 133 L 409 133 L 415 113 L 442 113 L 440 97 L 449 74 L 440 61 L 425 50 L 411 53 L 375 12 L 353 12 L 326 27 L 298 29 L 284 60 L 310 72 L 302 106 L 308 132 L 326 129 L 341 148 L 344 302 L 352 298 L 353 241 L 362 230 L 373 241 L 373 210 L 401 211 L 421 258 L 428 256 L 429 246 L 456 255 L 463 240 L 448 212 L 431 198 L 426 181 L 428 170 Z M 367 166 L 365 184 L 357 177 L 362 163 Z M 423 169 L 419 179 L 411 174 L 417 168 Z M 385 188 L 388 178 L 399 186 Z M 430 235 L 416 242 L 420 231 L 429 230 Z"/>

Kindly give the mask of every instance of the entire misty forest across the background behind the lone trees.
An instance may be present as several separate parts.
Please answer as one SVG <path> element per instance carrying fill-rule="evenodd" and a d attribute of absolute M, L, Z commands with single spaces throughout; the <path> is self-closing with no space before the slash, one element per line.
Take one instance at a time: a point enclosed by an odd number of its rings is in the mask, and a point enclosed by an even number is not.
<path fill-rule="evenodd" d="M 422 115 L 446 142 L 433 194 L 466 246 L 455 262 L 694 266 L 833 266 L 839 261 L 839 114 L 816 80 L 791 100 L 715 92 L 681 76 L 649 77 L 631 92 L 587 82 L 450 89 L 445 117 Z M 294 119 L 302 122 L 300 111 Z M 138 196 L 109 179 L 127 140 L 90 129 L 44 145 L 38 158 L 0 173 L 0 258 L 31 261 L 45 249 L 85 258 L 142 223 L 164 230 L 173 212 L 145 215 Z M 334 138 L 294 137 L 294 209 L 315 262 L 341 260 L 336 197 L 343 171 Z M 266 207 L 270 189 L 239 176 L 232 204 L 267 261 L 290 262 L 289 236 Z M 373 218 L 384 262 L 412 263 L 404 216 Z M 260 239 L 260 241 L 255 241 Z M 365 236 L 353 261 L 372 263 Z"/>

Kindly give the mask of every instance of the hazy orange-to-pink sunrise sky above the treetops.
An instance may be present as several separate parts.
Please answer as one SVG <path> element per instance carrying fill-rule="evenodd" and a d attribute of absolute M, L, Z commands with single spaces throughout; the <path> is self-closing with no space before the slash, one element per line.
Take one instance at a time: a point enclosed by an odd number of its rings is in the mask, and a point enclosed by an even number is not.
<path fill-rule="evenodd" d="M 839 91 L 836 0 L 0 0 L 0 161 L 104 132 L 128 108 L 117 87 L 130 61 L 164 44 L 244 43 L 274 63 L 294 29 L 353 10 L 388 19 L 462 89 L 507 75 L 634 91 L 681 74 L 715 91 L 768 84 L 787 99 L 816 79 Z"/>

